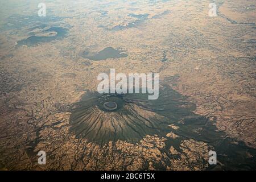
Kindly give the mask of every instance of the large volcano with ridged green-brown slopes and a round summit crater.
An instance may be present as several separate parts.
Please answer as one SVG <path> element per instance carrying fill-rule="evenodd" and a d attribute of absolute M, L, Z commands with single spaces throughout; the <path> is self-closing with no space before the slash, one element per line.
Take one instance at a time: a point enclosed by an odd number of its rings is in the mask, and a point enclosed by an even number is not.
<path fill-rule="evenodd" d="M 193 115 L 194 105 L 168 85 L 160 88 L 158 100 L 147 94 L 99 94 L 82 96 L 71 109 L 70 131 L 90 142 L 128 140 L 164 134 L 173 122 Z"/>

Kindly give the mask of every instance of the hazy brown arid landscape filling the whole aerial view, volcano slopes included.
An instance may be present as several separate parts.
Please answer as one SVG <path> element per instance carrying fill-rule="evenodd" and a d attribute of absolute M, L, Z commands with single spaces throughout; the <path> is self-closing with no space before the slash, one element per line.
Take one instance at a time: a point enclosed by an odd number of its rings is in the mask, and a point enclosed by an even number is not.
<path fill-rule="evenodd" d="M 254 0 L 39 3 L 1 1 L 1 170 L 256 169 Z M 158 100 L 101 109 L 112 68 L 159 73 Z"/>

